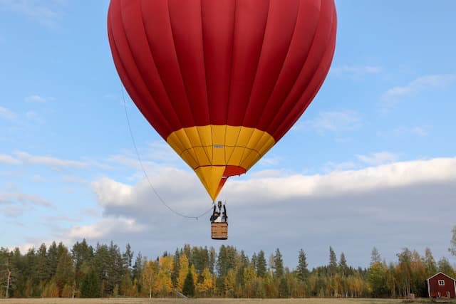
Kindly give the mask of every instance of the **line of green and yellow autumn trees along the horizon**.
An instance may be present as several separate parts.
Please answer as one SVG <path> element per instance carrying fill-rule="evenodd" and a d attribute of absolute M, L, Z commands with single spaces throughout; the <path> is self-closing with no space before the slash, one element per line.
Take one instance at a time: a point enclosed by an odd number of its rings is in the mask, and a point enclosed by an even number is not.
<path fill-rule="evenodd" d="M 290 269 L 279 248 L 249 257 L 234 246 L 216 252 L 186 244 L 149 259 L 135 256 L 129 244 L 121 251 L 113 242 L 93 247 L 83 240 L 71 248 L 43 243 L 24 254 L 0 248 L 0 298 L 152 298 L 176 292 L 199 298 L 425 297 L 427 278 L 438 271 L 455 277 L 447 258 L 436 262 L 429 248 L 424 256 L 408 248 L 397 256 L 386 263 L 374 247 L 370 266 L 353 268 L 344 253 L 337 257 L 329 247 L 328 264 L 309 270 L 303 249 Z"/>

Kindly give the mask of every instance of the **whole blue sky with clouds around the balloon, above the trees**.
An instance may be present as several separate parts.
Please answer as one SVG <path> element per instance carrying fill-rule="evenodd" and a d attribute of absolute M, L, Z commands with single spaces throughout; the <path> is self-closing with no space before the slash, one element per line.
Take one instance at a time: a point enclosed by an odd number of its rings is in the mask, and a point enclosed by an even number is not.
<path fill-rule="evenodd" d="M 403 247 L 446 256 L 456 224 L 456 2 L 336 1 L 331 71 L 290 132 L 220 195 L 232 244 L 311 266 L 328 247 L 368 266 Z M 108 1 L 0 0 L 0 246 L 110 240 L 157 256 L 219 246 L 196 175 L 142 118 L 115 71 Z"/>

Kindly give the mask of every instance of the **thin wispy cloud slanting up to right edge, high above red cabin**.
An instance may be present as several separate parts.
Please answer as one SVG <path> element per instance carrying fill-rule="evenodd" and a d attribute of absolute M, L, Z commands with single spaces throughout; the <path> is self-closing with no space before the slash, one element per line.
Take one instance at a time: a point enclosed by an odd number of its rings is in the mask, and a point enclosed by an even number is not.
<path fill-rule="evenodd" d="M 383 107 L 398 102 L 399 98 L 419 93 L 427 88 L 445 88 L 456 82 L 456 74 L 425 75 L 410 81 L 407 85 L 387 90 L 380 98 Z"/>

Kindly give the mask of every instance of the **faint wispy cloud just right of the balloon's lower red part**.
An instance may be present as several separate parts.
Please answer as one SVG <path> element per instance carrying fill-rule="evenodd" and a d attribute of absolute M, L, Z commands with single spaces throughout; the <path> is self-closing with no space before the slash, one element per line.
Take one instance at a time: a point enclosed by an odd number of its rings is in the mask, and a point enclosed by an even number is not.
<path fill-rule="evenodd" d="M 352 110 L 320 112 L 314 120 L 304 122 L 301 127 L 311 127 L 320 133 L 353 130 L 361 126 L 361 116 Z"/>

